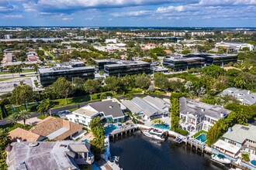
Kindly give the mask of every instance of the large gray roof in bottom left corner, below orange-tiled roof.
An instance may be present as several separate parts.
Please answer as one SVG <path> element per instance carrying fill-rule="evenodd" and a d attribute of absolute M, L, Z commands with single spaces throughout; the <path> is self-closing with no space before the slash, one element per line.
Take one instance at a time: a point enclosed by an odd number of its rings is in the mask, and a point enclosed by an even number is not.
<path fill-rule="evenodd" d="M 30 147 L 31 144 L 32 142 L 28 141 L 12 143 L 12 151 L 7 156 L 9 169 L 78 169 L 74 160 L 67 156 L 68 152 L 72 152 L 67 146 L 73 145 L 74 148 L 74 145 L 85 145 L 85 142 L 38 142 L 35 147 Z M 89 146 L 86 145 L 85 147 L 89 151 Z"/>

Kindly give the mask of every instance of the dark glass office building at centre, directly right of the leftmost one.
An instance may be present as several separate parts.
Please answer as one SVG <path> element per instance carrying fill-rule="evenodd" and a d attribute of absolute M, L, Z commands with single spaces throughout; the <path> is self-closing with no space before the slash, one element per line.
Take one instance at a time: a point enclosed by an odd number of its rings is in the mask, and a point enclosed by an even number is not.
<path fill-rule="evenodd" d="M 104 73 L 106 76 L 126 76 L 151 73 L 150 63 L 144 61 L 119 61 L 116 64 L 109 64 L 104 66 Z"/>

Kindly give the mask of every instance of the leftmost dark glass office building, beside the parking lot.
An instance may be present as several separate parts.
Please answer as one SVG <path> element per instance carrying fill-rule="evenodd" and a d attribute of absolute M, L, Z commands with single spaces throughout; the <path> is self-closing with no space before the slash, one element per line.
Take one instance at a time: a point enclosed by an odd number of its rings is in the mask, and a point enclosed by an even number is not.
<path fill-rule="evenodd" d="M 95 78 L 95 68 L 92 66 L 54 66 L 39 69 L 38 72 L 43 86 L 54 83 L 59 77 L 65 77 L 69 81 L 74 77 L 81 77 L 84 80 Z"/>

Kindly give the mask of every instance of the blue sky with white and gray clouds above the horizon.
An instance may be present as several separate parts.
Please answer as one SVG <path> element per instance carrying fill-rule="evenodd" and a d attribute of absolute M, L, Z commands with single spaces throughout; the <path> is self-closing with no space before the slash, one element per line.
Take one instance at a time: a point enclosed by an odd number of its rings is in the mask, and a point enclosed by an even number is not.
<path fill-rule="evenodd" d="M 0 0 L 0 26 L 256 27 L 256 0 Z"/>

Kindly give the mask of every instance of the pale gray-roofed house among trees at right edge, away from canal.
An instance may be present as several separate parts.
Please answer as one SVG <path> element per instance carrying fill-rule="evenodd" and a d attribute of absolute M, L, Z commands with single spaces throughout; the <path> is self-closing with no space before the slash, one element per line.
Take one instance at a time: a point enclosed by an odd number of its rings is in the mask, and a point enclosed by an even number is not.
<path fill-rule="evenodd" d="M 218 94 L 218 96 L 231 95 L 237 100 L 240 100 L 241 104 L 251 105 L 256 104 L 256 93 L 251 93 L 249 90 L 239 90 L 235 87 L 227 88 Z"/>

